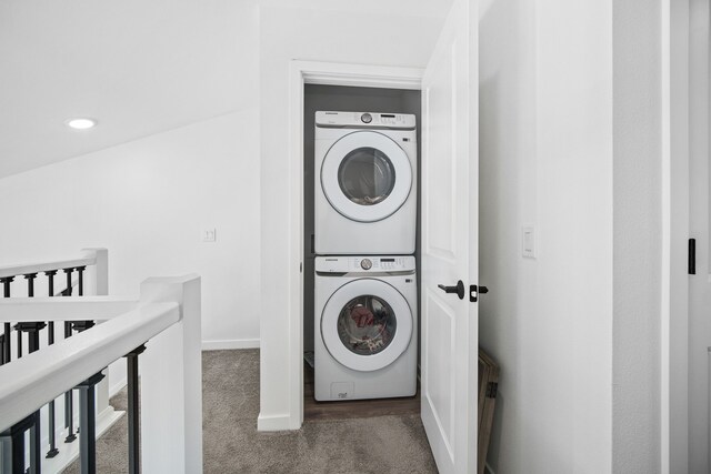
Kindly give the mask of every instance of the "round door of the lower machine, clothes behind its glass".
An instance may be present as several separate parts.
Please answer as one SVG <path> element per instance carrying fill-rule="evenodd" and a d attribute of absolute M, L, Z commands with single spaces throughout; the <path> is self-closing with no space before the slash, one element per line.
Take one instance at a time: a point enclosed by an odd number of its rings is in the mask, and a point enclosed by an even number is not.
<path fill-rule="evenodd" d="M 321 314 L 321 336 L 331 356 L 354 371 L 392 364 L 410 344 L 412 311 L 382 280 L 361 279 L 339 288 Z"/>

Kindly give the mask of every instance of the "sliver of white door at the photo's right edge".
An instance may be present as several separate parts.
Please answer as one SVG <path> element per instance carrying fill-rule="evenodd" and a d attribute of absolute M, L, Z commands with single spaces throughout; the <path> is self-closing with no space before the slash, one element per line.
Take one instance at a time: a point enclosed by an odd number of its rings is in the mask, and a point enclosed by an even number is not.
<path fill-rule="evenodd" d="M 695 274 L 689 276 L 689 472 L 711 472 L 711 260 L 709 225 L 709 1 L 689 3 L 689 228 Z"/>

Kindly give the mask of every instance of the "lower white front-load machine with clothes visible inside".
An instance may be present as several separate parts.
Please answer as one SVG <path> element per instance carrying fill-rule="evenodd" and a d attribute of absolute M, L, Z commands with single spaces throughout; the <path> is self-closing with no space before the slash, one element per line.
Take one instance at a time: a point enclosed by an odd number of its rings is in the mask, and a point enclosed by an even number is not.
<path fill-rule="evenodd" d="M 317 256 L 314 396 L 417 393 L 414 256 Z"/>

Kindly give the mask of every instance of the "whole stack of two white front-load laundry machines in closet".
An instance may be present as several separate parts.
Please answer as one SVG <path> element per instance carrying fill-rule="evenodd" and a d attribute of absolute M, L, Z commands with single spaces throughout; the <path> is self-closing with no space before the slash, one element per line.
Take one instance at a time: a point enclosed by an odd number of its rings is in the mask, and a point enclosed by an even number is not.
<path fill-rule="evenodd" d="M 412 114 L 317 112 L 314 396 L 417 393 Z"/>

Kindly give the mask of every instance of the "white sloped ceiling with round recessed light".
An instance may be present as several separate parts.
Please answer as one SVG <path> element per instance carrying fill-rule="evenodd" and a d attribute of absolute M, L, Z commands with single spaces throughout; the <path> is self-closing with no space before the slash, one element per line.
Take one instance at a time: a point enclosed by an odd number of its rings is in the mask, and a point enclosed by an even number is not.
<path fill-rule="evenodd" d="M 450 2 L 264 1 L 408 17 Z M 0 1 L 0 178 L 256 105 L 258 14 L 257 0 Z"/>

